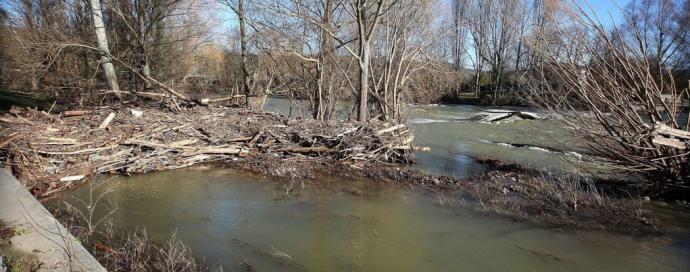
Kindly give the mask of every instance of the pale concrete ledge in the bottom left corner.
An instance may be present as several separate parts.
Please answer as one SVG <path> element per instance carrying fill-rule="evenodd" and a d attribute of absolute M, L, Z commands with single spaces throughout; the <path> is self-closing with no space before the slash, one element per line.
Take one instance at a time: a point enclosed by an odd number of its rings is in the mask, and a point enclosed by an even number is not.
<path fill-rule="evenodd" d="M 5 169 L 0 169 L 0 220 L 21 229 L 10 249 L 35 256 L 39 271 L 106 271 Z"/>

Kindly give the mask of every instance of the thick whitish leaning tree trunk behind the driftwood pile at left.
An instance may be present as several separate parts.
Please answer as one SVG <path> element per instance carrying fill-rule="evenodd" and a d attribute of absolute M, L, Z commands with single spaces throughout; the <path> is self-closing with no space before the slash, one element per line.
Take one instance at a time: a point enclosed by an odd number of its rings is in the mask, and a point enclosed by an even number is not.
<path fill-rule="evenodd" d="M 105 73 L 105 79 L 108 83 L 108 89 L 119 91 L 120 87 L 117 85 L 117 74 L 115 67 L 110 61 L 110 49 L 108 47 L 108 37 L 105 31 L 105 24 L 103 23 L 103 12 L 101 11 L 100 0 L 90 0 L 91 2 L 91 16 L 93 17 L 94 30 L 96 31 L 96 41 L 98 42 L 98 49 L 101 51 L 101 67 Z M 119 94 L 116 94 L 120 97 Z"/>

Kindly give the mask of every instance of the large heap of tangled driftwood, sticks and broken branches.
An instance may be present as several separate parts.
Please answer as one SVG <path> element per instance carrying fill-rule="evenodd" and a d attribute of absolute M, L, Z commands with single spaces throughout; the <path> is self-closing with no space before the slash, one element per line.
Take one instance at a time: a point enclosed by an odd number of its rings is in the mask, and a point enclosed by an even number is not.
<path fill-rule="evenodd" d="M 13 108 L 0 116 L 0 158 L 41 198 L 98 173 L 136 174 L 272 155 L 353 167 L 412 163 L 404 124 L 289 119 L 222 106 L 101 107 L 50 114 Z"/>

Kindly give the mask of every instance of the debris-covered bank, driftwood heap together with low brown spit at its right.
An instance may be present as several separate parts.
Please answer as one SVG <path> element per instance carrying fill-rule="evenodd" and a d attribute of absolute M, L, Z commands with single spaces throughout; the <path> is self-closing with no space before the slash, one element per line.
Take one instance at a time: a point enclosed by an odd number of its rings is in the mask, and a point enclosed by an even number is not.
<path fill-rule="evenodd" d="M 610 197 L 589 180 L 496 164 L 460 179 L 397 164 L 414 161 L 413 136 L 402 124 L 317 122 L 220 106 L 134 105 L 62 114 L 14 109 L 0 122 L 8 139 L 0 145 L 3 156 L 39 199 L 90 175 L 216 163 L 278 180 L 335 175 L 454 191 L 479 210 L 538 224 L 656 233 L 661 223 L 640 200 Z"/>

